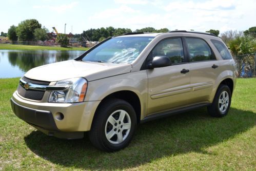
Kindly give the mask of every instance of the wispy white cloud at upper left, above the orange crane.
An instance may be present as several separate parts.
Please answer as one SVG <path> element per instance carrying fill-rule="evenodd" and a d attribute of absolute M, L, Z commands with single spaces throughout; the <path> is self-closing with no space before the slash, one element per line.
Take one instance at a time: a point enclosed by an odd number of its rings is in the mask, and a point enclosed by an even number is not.
<path fill-rule="evenodd" d="M 63 4 L 63 5 L 55 5 L 55 6 L 49 6 L 49 5 L 41 5 L 41 6 L 33 6 L 34 9 L 50 9 L 52 11 L 56 12 L 65 12 L 68 9 L 74 8 L 78 3 L 77 2 L 72 2 L 70 4 Z"/>

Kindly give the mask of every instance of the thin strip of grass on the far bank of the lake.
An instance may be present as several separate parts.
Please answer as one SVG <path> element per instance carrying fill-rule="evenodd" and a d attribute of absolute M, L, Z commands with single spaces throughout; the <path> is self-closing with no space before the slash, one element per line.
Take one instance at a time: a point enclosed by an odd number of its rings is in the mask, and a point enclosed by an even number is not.
<path fill-rule="evenodd" d="M 58 46 L 30 46 L 30 45 L 10 45 L 0 44 L 0 49 L 8 50 L 88 50 L 89 48 L 84 47 L 58 47 Z"/>

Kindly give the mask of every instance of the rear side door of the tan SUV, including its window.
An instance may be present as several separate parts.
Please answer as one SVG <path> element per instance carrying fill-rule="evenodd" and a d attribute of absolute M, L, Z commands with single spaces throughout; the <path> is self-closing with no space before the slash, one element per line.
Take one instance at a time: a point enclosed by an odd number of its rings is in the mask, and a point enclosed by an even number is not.
<path fill-rule="evenodd" d="M 189 56 L 191 103 L 208 103 L 213 84 L 221 72 L 219 61 L 203 39 L 184 37 Z"/>

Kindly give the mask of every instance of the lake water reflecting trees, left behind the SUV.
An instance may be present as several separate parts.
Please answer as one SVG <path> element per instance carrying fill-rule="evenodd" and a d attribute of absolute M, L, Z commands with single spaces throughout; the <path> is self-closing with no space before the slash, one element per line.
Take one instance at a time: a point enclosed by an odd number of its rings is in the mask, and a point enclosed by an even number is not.
<path fill-rule="evenodd" d="M 22 77 L 31 68 L 72 60 L 82 53 L 80 50 L 0 50 L 0 78 Z"/>

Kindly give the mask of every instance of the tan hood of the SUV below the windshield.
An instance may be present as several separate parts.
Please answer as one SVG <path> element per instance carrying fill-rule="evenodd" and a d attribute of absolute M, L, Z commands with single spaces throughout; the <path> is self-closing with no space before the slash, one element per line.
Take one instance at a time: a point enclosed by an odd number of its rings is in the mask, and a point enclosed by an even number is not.
<path fill-rule="evenodd" d="M 113 75 L 128 73 L 131 64 L 111 64 L 69 60 L 43 65 L 30 69 L 25 77 L 33 80 L 60 81 L 75 77 L 84 77 L 88 81 L 103 79 Z"/>

